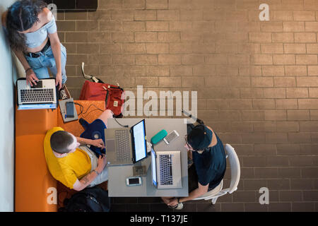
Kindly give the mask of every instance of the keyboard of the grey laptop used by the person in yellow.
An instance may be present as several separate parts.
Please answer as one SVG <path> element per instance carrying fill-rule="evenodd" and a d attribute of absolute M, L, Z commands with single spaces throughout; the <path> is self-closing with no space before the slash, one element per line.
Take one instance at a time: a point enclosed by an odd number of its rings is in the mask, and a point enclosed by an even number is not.
<path fill-rule="evenodd" d="M 131 161 L 129 149 L 129 131 L 117 130 L 115 131 L 117 141 L 117 160 L 122 162 Z"/>

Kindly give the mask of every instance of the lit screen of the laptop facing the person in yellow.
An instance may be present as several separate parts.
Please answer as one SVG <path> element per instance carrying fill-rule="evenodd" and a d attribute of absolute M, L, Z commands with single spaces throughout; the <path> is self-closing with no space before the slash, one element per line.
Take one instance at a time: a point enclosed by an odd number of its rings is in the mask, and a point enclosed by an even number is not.
<path fill-rule="evenodd" d="M 145 120 L 132 127 L 134 134 L 135 161 L 147 157 Z"/>

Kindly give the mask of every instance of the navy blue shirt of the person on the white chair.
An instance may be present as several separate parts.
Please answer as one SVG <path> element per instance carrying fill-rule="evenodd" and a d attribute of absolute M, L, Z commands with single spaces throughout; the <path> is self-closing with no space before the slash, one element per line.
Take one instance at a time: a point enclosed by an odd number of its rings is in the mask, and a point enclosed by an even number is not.
<path fill-rule="evenodd" d="M 216 133 L 214 133 L 216 135 Z M 225 150 L 222 141 L 216 135 L 217 143 L 208 150 L 199 154 L 192 152 L 196 174 L 201 185 L 208 185 L 208 189 L 214 189 L 222 181 L 226 169 Z"/>

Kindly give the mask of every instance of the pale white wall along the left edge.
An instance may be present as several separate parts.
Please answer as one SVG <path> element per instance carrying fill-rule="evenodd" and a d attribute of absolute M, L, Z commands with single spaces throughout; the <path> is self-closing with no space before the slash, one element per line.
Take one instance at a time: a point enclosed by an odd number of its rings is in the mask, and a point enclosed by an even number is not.
<path fill-rule="evenodd" d="M 0 1 L 0 15 L 13 0 Z M 0 211 L 14 208 L 14 83 L 13 66 L 2 25 L 0 25 Z"/>

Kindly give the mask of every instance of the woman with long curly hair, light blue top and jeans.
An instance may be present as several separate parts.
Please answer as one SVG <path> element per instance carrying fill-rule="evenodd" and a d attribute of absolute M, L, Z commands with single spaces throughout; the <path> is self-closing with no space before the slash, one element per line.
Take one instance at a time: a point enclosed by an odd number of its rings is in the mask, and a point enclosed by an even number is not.
<path fill-rule="evenodd" d="M 27 83 L 36 85 L 55 77 L 59 90 L 66 82 L 66 48 L 59 42 L 57 25 L 47 4 L 40 0 L 16 1 L 2 14 L 11 49 L 25 69 Z"/>

